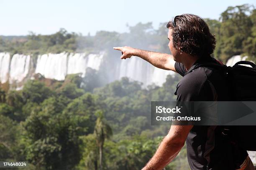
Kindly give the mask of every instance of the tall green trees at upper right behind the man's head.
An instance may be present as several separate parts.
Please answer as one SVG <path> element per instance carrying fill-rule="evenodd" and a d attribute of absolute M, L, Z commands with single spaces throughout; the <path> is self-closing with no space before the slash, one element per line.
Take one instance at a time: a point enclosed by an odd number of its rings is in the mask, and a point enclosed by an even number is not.
<path fill-rule="evenodd" d="M 221 23 L 216 22 L 214 27 L 217 33 L 216 57 L 225 62 L 233 55 L 243 54 L 255 60 L 255 15 L 251 5 L 228 7 L 221 13 Z"/>

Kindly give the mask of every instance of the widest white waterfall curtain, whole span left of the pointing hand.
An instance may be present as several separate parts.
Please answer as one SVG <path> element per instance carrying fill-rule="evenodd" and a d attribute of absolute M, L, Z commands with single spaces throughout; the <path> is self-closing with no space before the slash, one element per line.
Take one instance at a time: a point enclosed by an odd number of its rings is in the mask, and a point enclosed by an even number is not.
<path fill-rule="evenodd" d="M 82 73 L 84 77 L 86 68 L 99 70 L 104 53 L 68 53 L 39 55 L 36 64 L 36 72 L 46 78 L 64 80 L 67 74 Z"/>

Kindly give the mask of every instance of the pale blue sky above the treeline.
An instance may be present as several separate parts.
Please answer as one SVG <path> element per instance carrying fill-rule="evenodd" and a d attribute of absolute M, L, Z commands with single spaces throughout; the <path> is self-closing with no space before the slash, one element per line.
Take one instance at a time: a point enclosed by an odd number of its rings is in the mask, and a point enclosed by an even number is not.
<path fill-rule="evenodd" d="M 52 34 L 60 28 L 95 35 L 99 30 L 127 32 L 128 25 L 159 23 L 182 13 L 218 19 L 228 6 L 255 0 L 1 0 L 0 35 Z"/>

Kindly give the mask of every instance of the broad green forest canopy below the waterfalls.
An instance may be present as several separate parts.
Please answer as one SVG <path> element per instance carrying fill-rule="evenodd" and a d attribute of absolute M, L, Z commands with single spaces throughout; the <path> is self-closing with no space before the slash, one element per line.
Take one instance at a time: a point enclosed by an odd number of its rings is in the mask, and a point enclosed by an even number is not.
<path fill-rule="evenodd" d="M 154 154 L 157 136 L 168 132 L 150 125 L 150 101 L 172 99 L 177 80 L 169 76 L 163 87 L 142 89 L 141 83 L 123 78 L 93 93 L 84 93 L 78 75 L 54 87 L 30 80 L 23 90 L 8 91 L 0 104 L 1 115 L 10 121 L 0 123 L 8 132 L 2 139 L 10 144 L 0 145 L 2 157 L 27 160 L 31 169 L 141 168 Z"/>

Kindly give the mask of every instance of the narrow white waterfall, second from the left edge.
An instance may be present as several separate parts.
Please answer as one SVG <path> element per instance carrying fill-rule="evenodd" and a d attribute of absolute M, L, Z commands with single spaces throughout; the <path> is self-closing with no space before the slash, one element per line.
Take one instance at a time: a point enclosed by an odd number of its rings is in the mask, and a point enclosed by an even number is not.
<path fill-rule="evenodd" d="M 10 83 L 21 82 L 29 72 L 30 55 L 15 54 L 10 63 Z"/>

